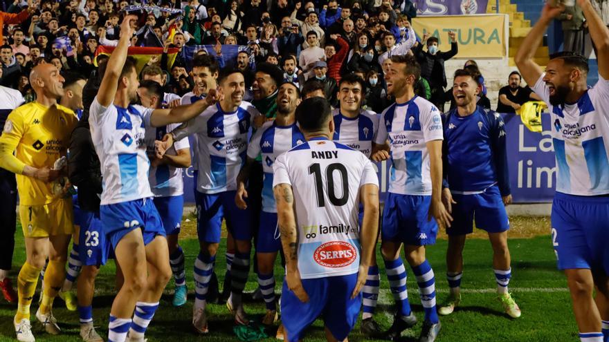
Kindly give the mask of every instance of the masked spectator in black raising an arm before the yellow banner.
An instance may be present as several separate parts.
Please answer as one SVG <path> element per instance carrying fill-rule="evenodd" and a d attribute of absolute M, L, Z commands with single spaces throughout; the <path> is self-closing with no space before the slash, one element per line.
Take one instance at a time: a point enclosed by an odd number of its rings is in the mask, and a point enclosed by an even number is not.
<path fill-rule="evenodd" d="M 444 87 L 446 87 L 446 70 L 444 61 L 457 55 L 457 38 L 455 32 L 448 32 L 451 39 L 451 50 L 442 52 L 438 50 L 439 40 L 437 37 L 423 37 L 427 51 L 423 51 L 423 44 L 417 44 L 412 52 L 415 53 L 417 61 L 421 65 L 421 77 L 429 82 L 431 88 L 430 102 L 435 104 L 441 111 L 444 108 Z"/>

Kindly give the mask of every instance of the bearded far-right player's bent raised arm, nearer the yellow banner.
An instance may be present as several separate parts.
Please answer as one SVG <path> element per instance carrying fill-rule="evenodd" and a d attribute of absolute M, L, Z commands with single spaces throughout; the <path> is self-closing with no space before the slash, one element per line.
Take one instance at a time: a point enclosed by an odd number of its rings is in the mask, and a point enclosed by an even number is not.
<path fill-rule="evenodd" d="M 514 57 L 514 62 L 518 66 L 518 70 L 520 70 L 520 75 L 530 86 L 534 85 L 541 76 L 541 73 L 543 73 L 541 67 L 533 59 L 535 51 L 541 45 L 547 26 L 549 26 L 555 17 L 561 15 L 563 10 L 565 8 L 562 6 L 552 7 L 546 3 L 543 10 L 541 10 L 541 17 L 535 23 L 535 26 L 531 28 L 525 40 L 522 41 Z"/>

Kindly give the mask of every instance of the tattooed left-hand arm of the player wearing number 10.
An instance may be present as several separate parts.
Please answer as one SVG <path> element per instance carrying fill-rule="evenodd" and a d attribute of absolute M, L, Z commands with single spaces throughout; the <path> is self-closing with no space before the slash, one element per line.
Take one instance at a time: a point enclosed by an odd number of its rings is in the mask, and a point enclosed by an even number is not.
<path fill-rule="evenodd" d="M 298 271 L 298 230 L 294 213 L 294 196 L 289 184 L 277 184 L 273 188 L 277 202 L 277 222 L 281 234 L 281 245 L 286 258 L 286 281 L 288 288 L 296 294 L 302 303 L 309 301 L 309 296 L 302 287 Z"/>

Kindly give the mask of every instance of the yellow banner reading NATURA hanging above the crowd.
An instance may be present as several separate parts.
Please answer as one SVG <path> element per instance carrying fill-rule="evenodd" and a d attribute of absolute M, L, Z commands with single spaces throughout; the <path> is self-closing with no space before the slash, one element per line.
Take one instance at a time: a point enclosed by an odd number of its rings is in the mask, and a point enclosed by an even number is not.
<path fill-rule="evenodd" d="M 459 53 L 456 58 L 507 55 L 506 15 L 444 15 L 421 16 L 412 19 L 419 38 L 426 33 L 439 39 L 439 50 L 451 50 L 448 32 L 455 32 Z"/>

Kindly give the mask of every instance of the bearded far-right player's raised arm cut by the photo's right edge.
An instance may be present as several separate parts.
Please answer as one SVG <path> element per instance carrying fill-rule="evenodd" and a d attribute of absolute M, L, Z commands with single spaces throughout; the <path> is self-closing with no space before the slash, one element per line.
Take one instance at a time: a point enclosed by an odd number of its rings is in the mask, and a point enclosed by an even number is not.
<path fill-rule="evenodd" d="M 583 10 L 583 16 L 590 30 L 590 38 L 597 47 L 599 75 L 603 79 L 609 79 L 609 29 L 592 7 L 590 0 L 578 0 L 577 4 Z"/>

